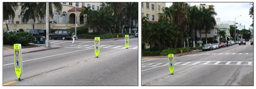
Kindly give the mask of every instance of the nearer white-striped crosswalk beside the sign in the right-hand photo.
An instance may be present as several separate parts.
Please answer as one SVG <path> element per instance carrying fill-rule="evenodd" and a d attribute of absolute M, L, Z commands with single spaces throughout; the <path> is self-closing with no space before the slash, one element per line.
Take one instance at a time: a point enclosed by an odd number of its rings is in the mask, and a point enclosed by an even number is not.
<path fill-rule="evenodd" d="M 176 62 L 174 65 L 253 65 L 253 61 L 189 61 L 189 62 Z M 142 68 L 168 66 L 166 63 L 142 63 Z"/>

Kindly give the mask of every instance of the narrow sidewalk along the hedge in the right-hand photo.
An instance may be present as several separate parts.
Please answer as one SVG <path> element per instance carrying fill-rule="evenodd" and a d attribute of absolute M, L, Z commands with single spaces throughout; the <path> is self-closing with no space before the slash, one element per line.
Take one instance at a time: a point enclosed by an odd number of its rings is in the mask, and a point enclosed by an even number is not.
<path fill-rule="evenodd" d="M 191 50 L 191 51 L 185 52 L 183 54 L 180 54 L 180 53 L 174 54 L 174 57 L 194 54 L 194 53 L 198 53 L 198 52 L 201 52 L 201 51 L 202 50 Z M 167 56 L 144 56 L 144 57 L 142 57 L 142 59 L 153 59 L 153 58 L 167 58 Z"/>

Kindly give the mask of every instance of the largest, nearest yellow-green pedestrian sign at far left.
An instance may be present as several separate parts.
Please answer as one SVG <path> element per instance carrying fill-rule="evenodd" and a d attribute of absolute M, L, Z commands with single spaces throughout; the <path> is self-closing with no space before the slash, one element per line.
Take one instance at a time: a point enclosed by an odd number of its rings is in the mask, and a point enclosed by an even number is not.
<path fill-rule="evenodd" d="M 23 72 L 22 67 L 22 45 L 21 44 L 14 44 L 13 45 L 13 53 L 14 53 L 14 70 L 18 81 L 20 81 L 20 76 Z"/>

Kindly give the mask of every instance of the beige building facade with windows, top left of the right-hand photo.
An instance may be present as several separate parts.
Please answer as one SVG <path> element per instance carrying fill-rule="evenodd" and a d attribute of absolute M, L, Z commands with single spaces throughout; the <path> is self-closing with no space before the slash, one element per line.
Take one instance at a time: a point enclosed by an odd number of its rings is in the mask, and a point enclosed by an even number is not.
<path fill-rule="evenodd" d="M 165 3 L 141 3 L 141 17 L 146 17 L 147 21 L 153 23 L 158 21 L 158 13 L 163 13 L 162 8 L 165 8 Z"/>

